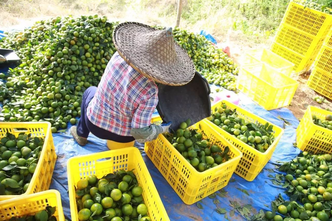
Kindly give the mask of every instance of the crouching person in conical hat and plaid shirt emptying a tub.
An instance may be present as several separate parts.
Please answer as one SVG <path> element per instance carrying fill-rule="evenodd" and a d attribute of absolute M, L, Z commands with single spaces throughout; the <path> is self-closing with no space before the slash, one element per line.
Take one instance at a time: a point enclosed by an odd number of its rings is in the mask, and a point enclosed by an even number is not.
<path fill-rule="evenodd" d="M 155 82 L 180 86 L 189 83 L 195 74 L 193 61 L 175 43 L 171 28 L 155 30 L 126 22 L 115 28 L 113 42 L 117 52 L 98 87 L 84 92 L 81 118 L 77 127 L 70 128 L 80 145 L 87 143 L 90 132 L 119 143 L 143 143 L 167 132 L 170 122 L 150 123 L 158 103 Z"/>

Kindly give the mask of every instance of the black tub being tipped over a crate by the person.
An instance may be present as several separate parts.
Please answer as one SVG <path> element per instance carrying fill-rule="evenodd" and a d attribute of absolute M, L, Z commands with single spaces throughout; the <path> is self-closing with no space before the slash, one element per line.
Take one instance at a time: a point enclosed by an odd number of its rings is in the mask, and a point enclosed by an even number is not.
<path fill-rule="evenodd" d="M 184 86 L 158 84 L 158 90 L 157 110 L 163 122 L 173 122 L 170 129 L 176 130 L 187 119 L 193 125 L 211 115 L 210 87 L 198 72 Z"/>

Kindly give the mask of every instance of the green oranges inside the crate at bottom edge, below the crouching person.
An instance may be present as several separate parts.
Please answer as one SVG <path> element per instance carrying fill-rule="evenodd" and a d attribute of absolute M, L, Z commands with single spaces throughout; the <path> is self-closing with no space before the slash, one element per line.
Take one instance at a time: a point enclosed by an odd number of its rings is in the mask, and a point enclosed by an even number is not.
<path fill-rule="evenodd" d="M 132 171 L 120 170 L 101 179 L 90 175 L 76 184 L 78 219 L 96 221 L 151 221 Z"/>

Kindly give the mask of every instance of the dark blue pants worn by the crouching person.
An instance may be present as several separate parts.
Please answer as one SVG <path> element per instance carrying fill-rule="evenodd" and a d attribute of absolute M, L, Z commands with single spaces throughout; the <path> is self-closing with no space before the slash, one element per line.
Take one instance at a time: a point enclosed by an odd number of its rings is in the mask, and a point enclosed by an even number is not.
<path fill-rule="evenodd" d="M 103 140 L 113 140 L 119 143 L 127 143 L 135 140 L 132 136 L 120 136 L 118 134 L 112 133 L 108 130 L 104 130 L 96 125 L 94 125 L 87 117 L 86 110 L 93 96 L 95 96 L 97 87 L 89 87 L 85 90 L 82 97 L 81 104 L 81 118 L 77 123 L 77 135 L 80 137 L 87 138 L 91 132 L 96 137 L 99 137 Z"/>

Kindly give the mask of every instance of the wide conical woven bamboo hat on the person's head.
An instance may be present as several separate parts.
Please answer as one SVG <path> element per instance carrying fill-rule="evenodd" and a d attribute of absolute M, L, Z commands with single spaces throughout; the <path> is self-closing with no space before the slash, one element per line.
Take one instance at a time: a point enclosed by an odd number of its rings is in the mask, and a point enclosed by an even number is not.
<path fill-rule="evenodd" d="M 173 38 L 172 28 L 125 22 L 113 31 L 113 42 L 120 56 L 135 70 L 158 83 L 181 86 L 195 75 L 193 61 Z"/>

